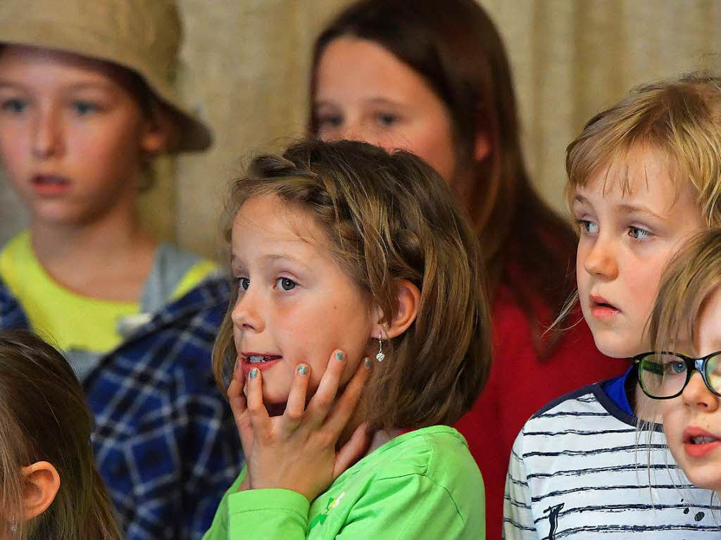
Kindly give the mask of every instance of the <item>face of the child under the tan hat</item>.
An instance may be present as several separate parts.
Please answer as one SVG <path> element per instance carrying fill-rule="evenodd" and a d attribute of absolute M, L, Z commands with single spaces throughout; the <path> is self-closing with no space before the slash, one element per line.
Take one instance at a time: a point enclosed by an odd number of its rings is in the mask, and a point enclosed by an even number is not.
<path fill-rule="evenodd" d="M 81 225 L 132 208 L 143 152 L 164 135 L 128 79 L 74 54 L 0 49 L 0 162 L 33 221 Z"/>

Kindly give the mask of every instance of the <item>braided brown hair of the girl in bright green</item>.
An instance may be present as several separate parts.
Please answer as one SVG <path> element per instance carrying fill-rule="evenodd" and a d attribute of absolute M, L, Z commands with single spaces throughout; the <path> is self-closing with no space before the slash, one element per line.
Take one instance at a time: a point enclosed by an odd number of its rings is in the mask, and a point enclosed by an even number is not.
<path fill-rule="evenodd" d="M 373 428 L 451 425 L 469 410 L 490 370 L 490 319 L 474 231 L 445 182 L 408 152 L 387 154 L 357 141 L 297 143 L 260 156 L 236 180 L 226 236 L 243 203 L 280 198 L 312 216 L 340 267 L 388 320 L 399 280 L 420 290 L 415 322 L 389 342 L 366 390 Z M 213 350 L 221 388 L 237 352 L 231 311 Z M 392 399 L 388 399 L 392 397 Z"/>

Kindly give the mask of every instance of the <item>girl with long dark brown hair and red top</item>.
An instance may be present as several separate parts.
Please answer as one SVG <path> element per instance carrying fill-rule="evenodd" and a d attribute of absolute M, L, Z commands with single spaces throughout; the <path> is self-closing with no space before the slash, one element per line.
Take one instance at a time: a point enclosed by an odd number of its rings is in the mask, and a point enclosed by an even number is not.
<path fill-rule="evenodd" d="M 549 399 L 623 369 L 598 353 L 578 313 L 564 334 L 544 335 L 573 291 L 576 237 L 526 172 L 500 35 L 474 0 L 355 2 L 317 38 L 309 131 L 412 151 L 471 215 L 490 271 L 494 366 L 458 427 L 482 469 L 497 538 L 523 422 Z"/>

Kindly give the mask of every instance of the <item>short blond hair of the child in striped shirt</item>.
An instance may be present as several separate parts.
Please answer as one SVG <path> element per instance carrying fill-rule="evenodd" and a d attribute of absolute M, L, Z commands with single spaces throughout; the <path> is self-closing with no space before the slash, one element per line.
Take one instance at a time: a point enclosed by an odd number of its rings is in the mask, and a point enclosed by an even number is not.
<path fill-rule="evenodd" d="M 567 201 L 602 167 L 639 148 L 665 156 L 678 188 L 685 180 L 695 188 L 706 223 L 721 225 L 720 77 L 687 74 L 640 86 L 591 118 L 566 150 Z M 629 192 L 628 178 L 621 187 Z"/>

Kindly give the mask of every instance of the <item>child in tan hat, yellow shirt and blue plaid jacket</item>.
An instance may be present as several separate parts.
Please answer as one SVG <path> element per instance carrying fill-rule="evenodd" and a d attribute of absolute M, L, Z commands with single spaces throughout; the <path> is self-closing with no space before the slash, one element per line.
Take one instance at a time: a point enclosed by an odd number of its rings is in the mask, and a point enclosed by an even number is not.
<path fill-rule="evenodd" d="M 141 230 L 151 161 L 211 132 L 174 90 L 173 0 L 2 0 L 0 164 L 30 227 L 0 252 L 0 328 L 63 350 L 130 539 L 195 538 L 241 456 L 210 353 L 213 263 Z"/>

